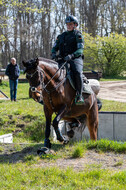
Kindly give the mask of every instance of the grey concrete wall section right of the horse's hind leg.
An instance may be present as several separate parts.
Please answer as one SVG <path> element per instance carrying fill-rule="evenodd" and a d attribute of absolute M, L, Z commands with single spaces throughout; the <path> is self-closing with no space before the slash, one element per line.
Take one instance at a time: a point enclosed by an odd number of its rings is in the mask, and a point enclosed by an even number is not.
<path fill-rule="evenodd" d="M 98 138 L 126 141 L 126 112 L 99 112 Z"/>

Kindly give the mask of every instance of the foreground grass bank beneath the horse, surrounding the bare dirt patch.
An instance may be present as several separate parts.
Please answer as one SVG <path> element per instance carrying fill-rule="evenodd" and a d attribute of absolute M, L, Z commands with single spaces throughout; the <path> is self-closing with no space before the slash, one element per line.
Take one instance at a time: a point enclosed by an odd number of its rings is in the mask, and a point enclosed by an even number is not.
<path fill-rule="evenodd" d="M 4 148 L 7 149 L 8 155 L 0 155 L 1 190 L 125 189 L 126 170 L 107 170 L 102 169 L 102 165 L 97 166 L 93 164 L 90 165 L 90 167 L 87 165 L 87 167 L 81 171 L 75 171 L 69 166 L 61 169 L 58 166 L 44 167 L 41 166 L 41 163 L 47 162 L 51 164 L 58 158 L 69 159 L 72 157 L 73 159 L 77 159 L 78 157 L 85 156 L 84 153 L 88 149 L 126 153 L 126 143 L 123 145 L 119 142 L 100 140 L 96 143 L 84 141 L 67 146 L 54 144 L 53 149 L 55 150 L 55 154 L 43 155 L 41 157 L 36 154 L 36 150 L 40 145 L 14 145 L 13 150 L 12 147 L 9 149 L 9 147 L 6 146 L 4 146 Z M 116 148 L 117 146 L 118 149 Z M 122 164 L 122 160 L 119 160 L 114 167 L 120 167 Z"/>

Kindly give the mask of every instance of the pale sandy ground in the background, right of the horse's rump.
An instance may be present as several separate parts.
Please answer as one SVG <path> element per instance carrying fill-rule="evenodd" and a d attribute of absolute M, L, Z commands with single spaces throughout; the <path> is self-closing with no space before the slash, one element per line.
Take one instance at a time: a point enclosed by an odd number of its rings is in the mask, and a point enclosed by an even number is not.
<path fill-rule="evenodd" d="M 98 97 L 105 100 L 126 102 L 126 81 L 101 81 Z"/>

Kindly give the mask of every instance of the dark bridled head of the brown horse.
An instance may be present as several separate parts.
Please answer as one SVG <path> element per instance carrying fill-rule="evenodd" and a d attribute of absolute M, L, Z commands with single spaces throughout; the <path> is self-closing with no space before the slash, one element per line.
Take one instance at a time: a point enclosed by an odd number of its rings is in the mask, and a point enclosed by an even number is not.
<path fill-rule="evenodd" d="M 41 87 L 40 87 L 40 68 L 39 59 L 31 59 L 28 61 L 22 61 L 26 73 L 26 78 L 30 84 L 30 93 L 34 100 L 41 101 Z"/>

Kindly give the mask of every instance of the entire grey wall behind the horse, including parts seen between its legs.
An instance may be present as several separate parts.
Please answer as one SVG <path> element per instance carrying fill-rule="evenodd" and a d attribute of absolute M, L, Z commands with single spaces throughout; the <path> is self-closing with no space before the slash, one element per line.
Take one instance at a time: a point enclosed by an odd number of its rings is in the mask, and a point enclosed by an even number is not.
<path fill-rule="evenodd" d="M 67 134 L 68 125 L 61 121 L 59 127 L 62 134 Z M 89 131 L 83 126 L 74 129 L 75 135 L 72 140 L 89 139 Z M 52 136 L 56 139 L 55 132 L 52 128 Z M 99 112 L 98 139 L 109 139 L 116 141 L 126 141 L 126 112 Z"/>

